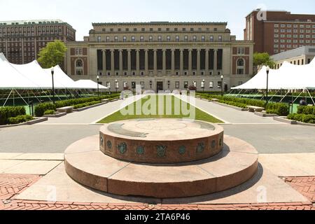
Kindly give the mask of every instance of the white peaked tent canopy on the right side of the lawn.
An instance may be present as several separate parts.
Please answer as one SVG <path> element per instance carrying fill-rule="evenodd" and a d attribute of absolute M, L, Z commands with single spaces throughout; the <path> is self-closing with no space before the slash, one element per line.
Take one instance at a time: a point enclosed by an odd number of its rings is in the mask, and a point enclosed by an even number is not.
<path fill-rule="evenodd" d="M 232 90 L 264 90 L 267 87 L 267 67 L 262 69 L 247 83 L 232 87 Z M 315 59 L 310 64 L 294 65 L 284 62 L 280 69 L 269 70 L 270 90 L 305 90 L 315 88 Z"/>

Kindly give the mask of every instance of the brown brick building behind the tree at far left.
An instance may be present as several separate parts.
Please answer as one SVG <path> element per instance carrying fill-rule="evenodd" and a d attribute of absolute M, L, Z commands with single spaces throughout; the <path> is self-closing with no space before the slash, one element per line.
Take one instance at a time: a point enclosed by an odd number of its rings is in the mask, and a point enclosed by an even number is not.
<path fill-rule="evenodd" d="M 27 20 L 0 22 L 0 52 L 9 62 L 26 64 L 48 42 L 76 41 L 76 30 L 61 20 Z"/>

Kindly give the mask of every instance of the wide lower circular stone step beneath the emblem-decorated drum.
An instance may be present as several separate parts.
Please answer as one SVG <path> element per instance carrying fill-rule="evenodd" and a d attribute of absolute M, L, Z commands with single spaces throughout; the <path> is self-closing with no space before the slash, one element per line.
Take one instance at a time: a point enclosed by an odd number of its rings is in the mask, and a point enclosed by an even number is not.
<path fill-rule="evenodd" d="M 116 195 L 174 198 L 207 195 L 239 186 L 258 169 L 258 152 L 225 136 L 223 151 L 207 160 L 152 165 L 111 158 L 99 151 L 99 137 L 72 144 L 64 154 L 66 172 L 84 186 Z"/>

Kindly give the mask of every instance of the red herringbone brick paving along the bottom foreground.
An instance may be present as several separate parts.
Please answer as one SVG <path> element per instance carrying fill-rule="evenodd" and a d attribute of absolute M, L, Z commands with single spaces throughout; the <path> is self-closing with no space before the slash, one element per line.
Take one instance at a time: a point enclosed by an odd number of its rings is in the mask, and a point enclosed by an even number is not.
<path fill-rule="evenodd" d="M 315 176 L 286 178 L 286 182 L 311 202 L 269 204 L 106 204 L 14 200 L 40 179 L 35 175 L 0 174 L 0 210 L 315 210 Z"/>

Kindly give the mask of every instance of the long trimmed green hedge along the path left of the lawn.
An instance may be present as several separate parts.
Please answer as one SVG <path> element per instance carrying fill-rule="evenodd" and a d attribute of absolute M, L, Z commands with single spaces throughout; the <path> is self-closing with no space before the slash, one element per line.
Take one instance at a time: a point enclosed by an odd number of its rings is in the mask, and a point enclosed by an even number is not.
<path fill-rule="evenodd" d="M 117 97 L 119 97 L 119 94 L 111 94 L 111 95 L 106 95 L 106 96 L 101 96 L 101 97 L 62 100 L 62 101 L 56 102 L 55 105 L 52 103 L 38 104 L 35 108 L 35 115 L 36 117 L 41 117 L 44 115 L 45 111 L 50 111 L 50 110 L 55 111 L 56 109 L 64 107 L 64 106 L 74 106 L 74 108 L 77 109 L 76 105 L 79 105 L 79 104 L 86 104 L 89 102 L 100 102 L 102 99 L 113 99 Z"/>

